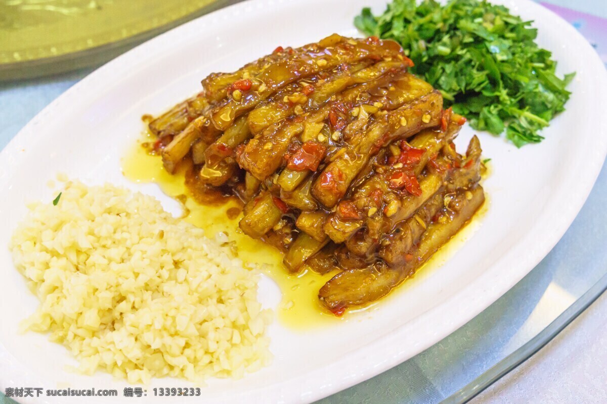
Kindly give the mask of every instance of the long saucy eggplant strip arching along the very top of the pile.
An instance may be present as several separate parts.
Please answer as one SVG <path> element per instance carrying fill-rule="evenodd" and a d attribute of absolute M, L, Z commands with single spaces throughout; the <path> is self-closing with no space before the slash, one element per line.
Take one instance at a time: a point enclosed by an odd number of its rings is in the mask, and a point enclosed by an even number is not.
<path fill-rule="evenodd" d="M 255 76 L 253 87 L 241 91 L 239 97 L 228 98 L 220 107 L 214 108 L 211 119 L 215 127 L 225 130 L 234 119 L 252 110 L 261 101 L 267 99 L 277 90 L 294 81 L 299 81 L 331 70 L 339 65 L 348 65 L 364 60 L 381 60 L 384 58 L 402 57 L 402 49 L 393 41 L 370 42 L 339 38 L 334 44 L 322 47 L 311 47 L 305 53 L 296 53 L 291 58 L 277 61 Z M 257 87 L 257 88 L 255 88 Z"/>

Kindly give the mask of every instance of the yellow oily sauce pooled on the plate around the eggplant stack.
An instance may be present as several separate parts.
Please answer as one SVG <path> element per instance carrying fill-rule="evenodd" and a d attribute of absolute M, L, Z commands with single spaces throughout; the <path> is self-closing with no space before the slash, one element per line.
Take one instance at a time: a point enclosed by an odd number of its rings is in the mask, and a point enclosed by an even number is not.
<path fill-rule="evenodd" d="M 217 233 L 225 233 L 230 242 L 234 243 L 237 256 L 243 262 L 259 264 L 262 273 L 269 276 L 280 288 L 282 300 L 276 308 L 279 322 L 294 329 L 310 329 L 313 326 L 336 323 L 347 320 L 350 315 L 359 310 L 350 310 L 344 317 L 336 317 L 328 313 L 318 300 L 318 291 L 322 285 L 335 276 L 339 271 L 320 275 L 313 271 L 304 271 L 299 276 L 290 276 L 282 264 L 282 253 L 276 248 L 260 240 L 252 239 L 242 233 L 238 223 L 242 217 L 242 203 L 236 197 L 225 197 L 217 194 L 192 194 L 186 187 L 186 173 L 188 164 L 181 164 L 175 174 L 169 174 L 164 170 L 162 159 L 149 153 L 144 144 L 154 142 L 155 136 L 146 134 L 132 147 L 123 158 L 123 174 L 127 179 L 138 183 L 155 183 L 164 194 L 177 199 L 183 206 L 183 219 L 187 222 L 205 230 L 206 236 L 214 238 Z M 204 204 L 200 203 L 204 200 Z M 480 208 L 472 224 L 466 225 L 446 245 L 437 251 L 422 268 L 438 267 L 446 262 L 448 257 L 464 242 L 473 231 L 478 228 L 478 217 L 483 216 L 487 208 L 487 201 Z M 419 268 L 415 278 L 419 278 Z M 408 279 L 393 291 L 362 310 L 374 310 L 382 302 L 393 298 L 410 287 L 415 287 L 415 280 Z"/>

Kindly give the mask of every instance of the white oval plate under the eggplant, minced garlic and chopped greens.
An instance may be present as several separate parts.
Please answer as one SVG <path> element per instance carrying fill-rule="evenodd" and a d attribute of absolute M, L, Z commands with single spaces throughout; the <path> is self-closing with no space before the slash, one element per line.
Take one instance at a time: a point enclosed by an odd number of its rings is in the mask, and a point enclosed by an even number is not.
<path fill-rule="evenodd" d="M 124 184 L 174 207 L 155 185 L 130 184 L 120 156 L 141 133 L 140 117 L 160 113 L 200 88 L 211 71 L 232 71 L 277 45 L 303 45 L 333 32 L 359 36 L 352 19 L 370 0 L 252 0 L 204 16 L 127 52 L 83 79 L 38 114 L 0 154 L 0 388 L 113 388 L 118 397 L 87 402 L 130 403 L 127 383 L 108 374 L 75 374 L 63 346 L 36 333 L 18 334 L 38 301 L 5 247 L 24 202 L 54 195 L 47 180 L 62 171 L 89 183 Z M 273 364 L 242 380 L 210 380 L 208 403 L 311 402 L 398 365 L 452 333 L 527 274 L 565 233 L 582 207 L 607 150 L 607 77 L 585 39 L 546 8 L 503 0 L 535 20 L 538 42 L 554 51 L 559 73 L 577 71 L 567 111 L 543 131 L 546 140 L 521 150 L 481 134 L 492 175 L 484 183 L 489 210 L 481 226 L 439 268 L 425 271 L 404 293 L 347 322 L 294 333 L 270 329 Z M 384 1 L 375 1 L 375 12 Z M 473 131 L 464 130 L 459 147 Z M 266 284 L 267 283 L 267 284 Z M 265 281 L 264 290 L 270 290 Z M 268 293 L 271 294 L 271 293 Z M 266 304 L 276 296 L 264 296 Z M 191 386 L 156 379 L 146 402 L 192 402 L 152 397 L 154 387 Z M 32 403 L 80 399 L 39 397 Z"/>

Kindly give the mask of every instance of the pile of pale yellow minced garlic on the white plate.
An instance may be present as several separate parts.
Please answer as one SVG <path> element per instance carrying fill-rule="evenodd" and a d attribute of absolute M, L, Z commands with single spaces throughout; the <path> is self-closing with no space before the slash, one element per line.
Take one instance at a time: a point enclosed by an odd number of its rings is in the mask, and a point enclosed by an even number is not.
<path fill-rule="evenodd" d="M 271 312 L 257 275 L 158 200 L 66 182 L 13 234 L 15 265 L 41 300 L 25 328 L 129 382 L 242 377 L 270 362 Z"/>

